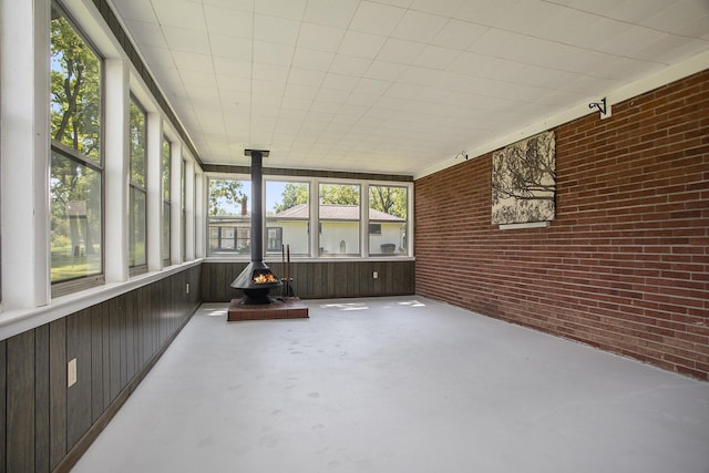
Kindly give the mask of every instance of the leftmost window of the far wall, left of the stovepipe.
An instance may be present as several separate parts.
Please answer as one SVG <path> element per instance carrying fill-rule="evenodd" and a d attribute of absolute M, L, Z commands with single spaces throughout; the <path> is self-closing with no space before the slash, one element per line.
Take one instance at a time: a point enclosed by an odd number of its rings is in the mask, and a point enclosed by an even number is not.
<path fill-rule="evenodd" d="M 250 181 L 209 179 L 209 255 L 251 251 Z"/>

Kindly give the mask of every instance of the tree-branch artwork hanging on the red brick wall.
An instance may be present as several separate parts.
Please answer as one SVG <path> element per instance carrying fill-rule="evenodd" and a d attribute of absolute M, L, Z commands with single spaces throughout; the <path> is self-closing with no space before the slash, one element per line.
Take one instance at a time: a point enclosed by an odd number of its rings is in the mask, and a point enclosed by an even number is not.
<path fill-rule="evenodd" d="M 492 223 L 549 222 L 556 206 L 554 132 L 514 143 L 492 155 Z"/>

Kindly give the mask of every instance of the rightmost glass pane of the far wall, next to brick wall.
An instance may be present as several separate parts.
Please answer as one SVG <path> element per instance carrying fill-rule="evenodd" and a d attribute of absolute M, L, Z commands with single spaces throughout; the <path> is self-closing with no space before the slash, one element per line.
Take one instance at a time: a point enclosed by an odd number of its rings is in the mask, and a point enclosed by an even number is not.
<path fill-rule="evenodd" d="M 369 187 L 369 254 L 407 256 L 407 187 Z"/>

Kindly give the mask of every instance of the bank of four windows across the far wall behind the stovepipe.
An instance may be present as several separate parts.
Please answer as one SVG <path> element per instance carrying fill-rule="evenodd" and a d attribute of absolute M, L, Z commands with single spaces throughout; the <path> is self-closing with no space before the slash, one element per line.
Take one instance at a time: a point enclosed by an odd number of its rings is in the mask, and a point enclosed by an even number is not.
<path fill-rule="evenodd" d="M 209 178 L 209 256 L 250 255 L 250 179 Z M 409 257 L 411 183 L 285 176 L 264 181 L 264 248 L 295 257 Z M 310 212 L 316 208 L 317 213 Z M 368 213 L 364 208 L 368 208 Z"/>

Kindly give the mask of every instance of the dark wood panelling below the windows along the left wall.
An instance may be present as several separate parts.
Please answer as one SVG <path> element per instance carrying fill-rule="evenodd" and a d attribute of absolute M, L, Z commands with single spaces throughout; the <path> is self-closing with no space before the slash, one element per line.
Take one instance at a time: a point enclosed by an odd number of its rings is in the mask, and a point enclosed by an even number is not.
<path fill-rule="evenodd" d="M 0 341 L 0 473 L 69 471 L 197 309 L 201 276 L 195 266 Z"/>

